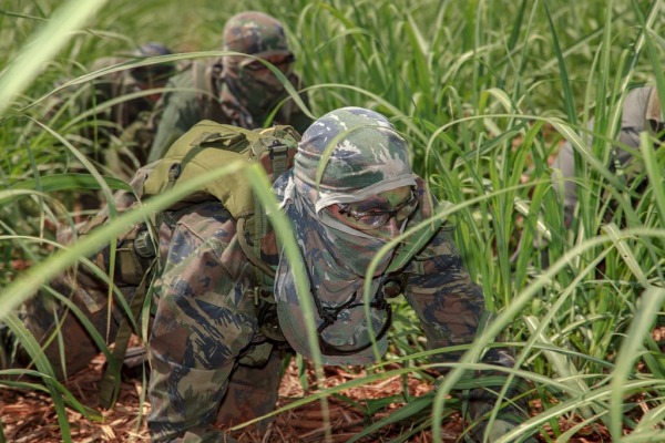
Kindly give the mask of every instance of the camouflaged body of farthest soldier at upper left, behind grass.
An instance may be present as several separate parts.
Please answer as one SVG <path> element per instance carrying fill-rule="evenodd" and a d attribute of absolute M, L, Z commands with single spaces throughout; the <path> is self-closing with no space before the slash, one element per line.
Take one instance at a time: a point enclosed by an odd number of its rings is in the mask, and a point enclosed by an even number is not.
<path fill-rule="evenodd" d="M 95 72 L 171 53 L 161 43 L 145 43 L 131 52 L 98 59 L 89 71 Z M 65 111 L 76 117 L 84 114 L 80 134 L 93 145 L 85 154 L 120 178 L 129 181 L 139 167 L 146 164 L 158 117 L 153 111 L 160 94 L 129 96 L 141 94 L 144 90 L 163 87 L 168 78 L 183 68 L 178 63 L 162 62 L 98 76 L 83 84 L 74 94 L 63 93 L 49 97 L 45 101 L 44 117 L 52 119 Z M 57 83 L 61 85 L 64 80 Z M 71 107 L 63 110 L 63 105 L 69 102 L 72 103 Z M 84 195 L 85 199 L 88 197 Z M 99 209 L 99 198 L 91 196 L 90 200 L 90 204 L 84 205 L 85 208 Z"/>

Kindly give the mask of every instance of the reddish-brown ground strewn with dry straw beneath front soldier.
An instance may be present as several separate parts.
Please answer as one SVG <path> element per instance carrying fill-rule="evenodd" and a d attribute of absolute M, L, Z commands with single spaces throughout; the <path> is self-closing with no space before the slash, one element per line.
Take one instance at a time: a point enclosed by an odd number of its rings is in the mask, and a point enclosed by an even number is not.
<path fill-rule="evenodd" d="M 99 383 L 102 377 L 104 359 L 100 354 L 86 370 L 70 378 L 66 387 L 86 406 L 100 411 L 101 422 L 93 422 L 83 418 L 79 412 L 68 408 L 68 419 L 71 425 L 74 442 L 147 442 L 150 437 L 145 419 L 150 412 L 150 404 L 143 399 L 145 394 L 141 380 L 124 380 L 116 406 L 104 411 L 98 406 Z M 341 368 L 326 367 L 326 385 L 332 387 L 351 379 L 362 377 L 362 373 L 345 372 Z M 344 395 L 362 404 L 365 400 L 388 398 L 403 391 L 401 378 L 382 380 L 361 388 L 344 391 Z M 431 385 L 415 378 L 409 378 L 407 389 L 411 395 L 422 395 L 431 390 Z M 305 392 L 298 380 L 295 364 L 288 368 L 282 380 L 278 406 L 301 398 Z M 374 420 L 380 420 L 401 404 L 390 403 Z M 346 442 L 359 433 L 371 422 L 358 408 L 337 398 L 328 399 L 330 442 Z M 58 418 L 49 394 L 23 391 L 0 385 L 0 420 L 2 432 L 7 442 L 12 443 L 51 443 L 61 442 L 62 436 Z M 380 434 L 364 439 L 361 442 L 389 441 L 405 427 L 392 425 L 382 429 Z M 450 418 L 442 427 L 443 442 L 454 442 L 461 433 L 459 416 Z M 324 442 L 326 426 L 320 402 L 298 406 L 279 414 L 268 432 L 263 435 L 243 434 L 239 440 L 248 443 L 284 443 L 284 442 Z M 0 439 L 0 442 L 2 440 Z M 412 436 L 410 442 L 431 442 L 429 432 L 420 432 Z"/>

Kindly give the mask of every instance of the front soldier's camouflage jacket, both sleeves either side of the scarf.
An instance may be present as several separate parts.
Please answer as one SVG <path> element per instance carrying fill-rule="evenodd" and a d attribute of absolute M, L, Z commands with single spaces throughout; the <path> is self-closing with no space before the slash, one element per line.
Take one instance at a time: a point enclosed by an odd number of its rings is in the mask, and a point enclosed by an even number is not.
<path fill-rule="evenodd" d="M 422 194 L 420 188 L 421 202 Z M 274 239 L 263 250 L 265 260 L 276 262 Z M 402 274 L 406 299 L 428 348 L 473 340 L 484 298 L 449 228 L 441 228 Z M 149 427 L 154 441 L 172 441 L 185 432 L 218 441 L 213 423 L 228 378 L 244 353 L 266 341 L 255 309 L 255 279 L 237 241 L 236 223 L 221 203 L 201 204 L 177 222 L 150 341 Z M 446 352 L 436 360 L 459 357 Z"/>

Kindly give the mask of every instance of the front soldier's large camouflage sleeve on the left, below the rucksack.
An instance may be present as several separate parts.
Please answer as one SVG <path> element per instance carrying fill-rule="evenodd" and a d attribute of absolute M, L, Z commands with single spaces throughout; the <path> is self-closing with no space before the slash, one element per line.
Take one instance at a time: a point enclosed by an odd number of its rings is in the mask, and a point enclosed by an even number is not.
<path fill-rule="evenodd" d="M 236 358 L 257 328 L 244 296 L 235 222 L 218 203 L 177 223 L 162 275 L 150 339 L 153 442 L 221 441 L 214 426 Z"/>

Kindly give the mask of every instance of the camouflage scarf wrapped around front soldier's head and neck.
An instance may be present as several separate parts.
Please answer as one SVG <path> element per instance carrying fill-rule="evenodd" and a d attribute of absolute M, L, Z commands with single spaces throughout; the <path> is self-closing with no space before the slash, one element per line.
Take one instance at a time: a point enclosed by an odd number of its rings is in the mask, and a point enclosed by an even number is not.
<path fill-rule="evenodd" d="M 328 157 L 329 154 L 329 157 Z M 317 179 L 319 165 L 326 167 Z M 309 275 L 310 292 L 321 306 L 339 307 L 354 296 L 362 300 L 367 266 L 385 240 L 354 229 L 327 216 L 325 208 L 355 203 L 386 190 L 416 186 L 406 143 L 388 120 L 374 111 L 342 107 L 317 120 L 298 145 L 291 173 L 275 183 L 275 190 L 293 222 L 296 239 Z M 391 254 L 381 260 L 371 288 L 376 292 Z M 372 292 L 372 293 L 374 293 Z M 275 297 L 284 336 L 297 352 L 310 357 L 304 312 L 296 295 L 290 264 L 284 255 L 275 278 Z M 383 310 L 371 309 L 371 329 L 378 333 Z M 319 326 L 323 320 L 315 312 Z M 334 346 L 358 348 L 370 341 L 364 307 L 345 309 L 321 332 Z M 386 338 L 378 342 L 387 348 Z M 367 364 L 375 360 L 371 348 L 350 356 L 323 356 L 326 364 Z"/>

